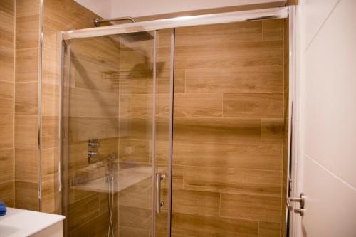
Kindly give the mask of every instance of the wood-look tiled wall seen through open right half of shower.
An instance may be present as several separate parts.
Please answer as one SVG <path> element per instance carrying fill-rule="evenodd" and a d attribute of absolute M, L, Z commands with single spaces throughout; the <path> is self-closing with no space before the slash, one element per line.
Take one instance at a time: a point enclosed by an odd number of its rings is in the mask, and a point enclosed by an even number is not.
<path fill-rule="evenodd" d="M 280 236 L 283 51 L 283 20 L 176 29 L 172 234 Z"/>

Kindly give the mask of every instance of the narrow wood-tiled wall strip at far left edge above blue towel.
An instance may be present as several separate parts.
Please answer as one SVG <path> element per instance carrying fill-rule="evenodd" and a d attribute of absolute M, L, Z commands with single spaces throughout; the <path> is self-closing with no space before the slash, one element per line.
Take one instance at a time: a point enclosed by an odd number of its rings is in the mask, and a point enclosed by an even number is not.
<path fill-rule="evenodd" d="M 0 1 L 0 201 L 14 206 L 15 1 Z"/>

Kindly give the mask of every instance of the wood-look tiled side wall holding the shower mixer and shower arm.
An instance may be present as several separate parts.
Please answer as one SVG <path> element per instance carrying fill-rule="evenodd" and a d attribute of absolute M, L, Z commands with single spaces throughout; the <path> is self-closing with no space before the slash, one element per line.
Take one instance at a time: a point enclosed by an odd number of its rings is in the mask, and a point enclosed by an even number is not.
<path fill-rule="evenodd" d="M 58 194 L 58 90 L 59 67 L 57 31 L 93 27 L 93 12 L 73 0 L 45 0 L 43 9 L 43 79 L 42 79 L 42 210 L 57 213 Z M 108 194 L 76 189 L 80 176 L 88 174 L 88 139 L 100 142 L 98 159 L 102 166 L 93 175 L 105 175 L 105 159 L 118 151 L 118 72 L 120 44 L 108 37 L 73 41 L 70 55 L 69 105 L 69 206 L 70 236 L 106 236 L 108 234 Z M 65 183 L 65 181 L 63 181 Z M 115 196 L 117 200 L 117 196 Z M 117 204 L 114 228 L 117 233 Z"/>

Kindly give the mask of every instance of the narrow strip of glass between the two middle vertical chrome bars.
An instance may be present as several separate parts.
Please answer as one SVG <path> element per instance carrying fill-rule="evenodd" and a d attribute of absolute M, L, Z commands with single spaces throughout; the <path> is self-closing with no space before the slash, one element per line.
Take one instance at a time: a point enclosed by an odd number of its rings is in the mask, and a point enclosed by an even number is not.
<path fill-rule="evenodd" d="M 155 214 L 156 236 L 167 236 L 170 231 L 171 210 L 171 171 L 172 171 L 172 80 L 171 56 L 172 29 L 157 31 L 157 60 L 156 60 L 156 96 L 155 96 L 155 170 L 164 174 L 165 179 L 161 181 L 159 200 L 162 201 L 161 211 Z M 156 187 L 157 189 L 157 187 Z M 157 198 L 157 197 L 156 197 Z M 157 205 L 157 204 L 156 204 Z M 156 206 L 157 209 L 157 206 Z"/>

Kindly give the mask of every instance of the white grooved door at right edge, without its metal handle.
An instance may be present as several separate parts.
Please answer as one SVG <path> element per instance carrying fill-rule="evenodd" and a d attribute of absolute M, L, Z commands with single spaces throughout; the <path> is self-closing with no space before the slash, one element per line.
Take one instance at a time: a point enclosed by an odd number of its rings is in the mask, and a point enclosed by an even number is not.
<path fill-rule="evenodd" d="M 301 228 L 311 237 L 355 237 L 356 1 L 300 0 L 298 18 Z"/>

